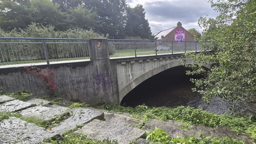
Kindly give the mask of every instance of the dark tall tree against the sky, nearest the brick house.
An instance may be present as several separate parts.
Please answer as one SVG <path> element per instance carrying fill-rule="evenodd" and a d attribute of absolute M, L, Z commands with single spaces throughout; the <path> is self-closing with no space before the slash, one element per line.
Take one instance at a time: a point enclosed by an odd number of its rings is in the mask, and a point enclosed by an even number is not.
<path fill-rule="evenodd" d="M 140 36 L 142 39 L 154 39 L 148 20 L 145 19 L 145 9 L 138 4 L 128 9 L 126 34 L 128 36 Z"/>

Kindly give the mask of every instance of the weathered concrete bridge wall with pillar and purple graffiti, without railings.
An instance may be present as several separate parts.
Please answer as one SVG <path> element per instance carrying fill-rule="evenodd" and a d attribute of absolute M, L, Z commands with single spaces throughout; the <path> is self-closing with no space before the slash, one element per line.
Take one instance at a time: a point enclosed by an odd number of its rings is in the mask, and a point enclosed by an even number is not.
<path fill-rule="evenodd" d="M 194 63 L 182 53 L 109 59 L 106 39 L 90 39 L 90 55 L 90 61 L 37 67 L 55 71 L 53 79 L 58 97 L 94 104 L 100 101 L 120 103 L 127 93 L 146 79 L 181 65 L 180 59 Z M 210 65 L 206 67 L 210 68 Z M 37 83 L 42 81 L 24 67 L 0 68 L 0 89 L 4 92 L 28 90 L 34 95 L 48 95 L 46 87 Z"/>

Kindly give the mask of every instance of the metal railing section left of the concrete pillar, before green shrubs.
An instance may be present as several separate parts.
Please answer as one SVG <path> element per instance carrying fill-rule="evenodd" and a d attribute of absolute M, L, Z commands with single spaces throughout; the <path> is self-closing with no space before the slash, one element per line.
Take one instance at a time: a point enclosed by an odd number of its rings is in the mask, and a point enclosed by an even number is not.
<path fill-rule="evenodd" d="M 90 59 L 88 41 L 0 37 L 0 65 Z"/>

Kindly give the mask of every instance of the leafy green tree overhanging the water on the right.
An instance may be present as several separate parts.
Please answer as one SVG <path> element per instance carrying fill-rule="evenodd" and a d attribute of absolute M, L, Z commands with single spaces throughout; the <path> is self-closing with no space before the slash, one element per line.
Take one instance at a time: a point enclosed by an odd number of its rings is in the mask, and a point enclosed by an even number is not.
<path fill-rule="evenodd" d="M 203 95 L 206 102 L 212 96 L 244 103 L 256 102 L 256 0 L 219 0 L 212 7 L 220 13 L 215 19 L 200 18 L 204 28 L 201 40 L 209 40 L 206 55 L 186 53 L 198 62 L 187 65 L 194 68 L 188 74 L 204 73 L 202 79 L 192 79 L 194 91 Z M 212 31 L 210 31 L 212 30 Z M 208 47 L 206 47 L 208 46 Z M 212 65 L 210 71 L 202 66 Z"/>

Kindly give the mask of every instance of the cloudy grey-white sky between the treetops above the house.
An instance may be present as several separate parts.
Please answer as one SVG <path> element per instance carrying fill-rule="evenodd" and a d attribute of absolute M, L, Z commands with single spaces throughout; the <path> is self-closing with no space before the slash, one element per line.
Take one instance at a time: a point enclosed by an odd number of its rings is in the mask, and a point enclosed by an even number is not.
<path fill-rule="evenodd" d="M 146 12 L 152 34 L 177 26 L 178 22 L 186 30 L 198 26 L 200 16 L 206 14 L 215 18 L 218 14 L 211 8 L 208 0 L 126 0 L 132 8 L 136 4 L 142 4 Z"/>

